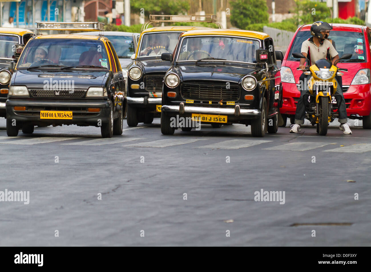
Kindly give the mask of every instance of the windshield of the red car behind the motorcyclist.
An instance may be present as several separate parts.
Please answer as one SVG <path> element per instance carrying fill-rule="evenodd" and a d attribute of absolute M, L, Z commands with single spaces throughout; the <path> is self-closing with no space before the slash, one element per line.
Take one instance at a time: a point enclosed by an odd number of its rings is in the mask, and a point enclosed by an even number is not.
<path fill-rule="evenodd" d="M 301 45 L 303 41 L 311 37 L 310 31 L 299 31 L 296 34 L 293 45 L 290 48 L 288 60 L 299 61 L 294 58 L 292 53 L 302 53 Z M 331 30 L 329 39 L 335 42 L 335 49 L 339 53 L 339 57 L 343 54 L 352 54 L 351 60 L 342 60 L 342 62 L 364 62 L 366 58 L 365 39 L 361 32 L 336 31 Z"/>

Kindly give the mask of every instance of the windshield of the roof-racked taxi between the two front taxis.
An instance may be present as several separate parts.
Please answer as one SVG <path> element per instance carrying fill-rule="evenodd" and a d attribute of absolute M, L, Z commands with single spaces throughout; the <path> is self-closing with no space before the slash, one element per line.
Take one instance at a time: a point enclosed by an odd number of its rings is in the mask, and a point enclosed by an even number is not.
<path fill-rule="evenodd" d="M 181 32 L 155 32 L 143 34 L 139 57 L 161 56 L 162 53 L 173 53 Z"/>

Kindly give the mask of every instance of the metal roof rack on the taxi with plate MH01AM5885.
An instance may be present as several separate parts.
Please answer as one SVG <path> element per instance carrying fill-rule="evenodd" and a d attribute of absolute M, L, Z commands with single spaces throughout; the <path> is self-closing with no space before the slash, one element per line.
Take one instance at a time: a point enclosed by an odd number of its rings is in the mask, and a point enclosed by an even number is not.
<path fill-rule="evenodd" d="M 42 35 L 41 30 L 75 30 L 99 31 L 103 35 L 104 23 L 99 22 L 36 22 L 36 35 Z"/>

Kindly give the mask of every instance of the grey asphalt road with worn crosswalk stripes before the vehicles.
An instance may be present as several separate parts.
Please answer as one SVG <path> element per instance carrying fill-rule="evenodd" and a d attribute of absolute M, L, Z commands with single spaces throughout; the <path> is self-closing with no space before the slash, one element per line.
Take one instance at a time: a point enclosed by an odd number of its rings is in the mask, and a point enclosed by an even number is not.
<path fill-rule="evenodd" d="M 0 246 L 370 246 L 371 131 L 289 123 L 264 138 L 236 124 L 165 136 L 158 118 L 111 139 L 77 126 L 8 138 L 0 118 L 0 191 L 30 192 L 0 202 Z M 262 189 L 284 204 L 255 201 Z"/>

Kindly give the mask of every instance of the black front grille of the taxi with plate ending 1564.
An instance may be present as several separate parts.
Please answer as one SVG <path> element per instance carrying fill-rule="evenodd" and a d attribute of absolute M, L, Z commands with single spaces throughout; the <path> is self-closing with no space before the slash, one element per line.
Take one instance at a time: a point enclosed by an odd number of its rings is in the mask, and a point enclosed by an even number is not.
<path fill-rule="evenodd" d="M 210 101 L 236 101 L 240 96 L 237 83 L 229 83 L 228 86 L 224 81 L 186 82 L 182 84 L 181 94 L 185 99 Z"/>

